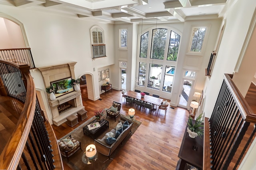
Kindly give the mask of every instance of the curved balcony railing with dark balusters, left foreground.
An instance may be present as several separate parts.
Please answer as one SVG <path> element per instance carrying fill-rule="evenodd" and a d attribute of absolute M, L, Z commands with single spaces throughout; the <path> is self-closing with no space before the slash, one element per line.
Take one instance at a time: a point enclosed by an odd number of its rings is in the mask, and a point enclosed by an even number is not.
<path fill-rule="evenodd" d="M 0 169 L 52 170 L 56 167 L 54 158 L 58 169 L 63 169 L 54 132 L 41 115 L 30 67 L 1 60 L 0 68 L 1 78 L 9 82 L 4 84 L 8 95 L 24 103 L 16 128 L 0 155 Z M 9 80 L 16 80 L 18 85 L 12 85 L 14 82 Z M 15 93 L 17 88 L 22 90 Z"/>

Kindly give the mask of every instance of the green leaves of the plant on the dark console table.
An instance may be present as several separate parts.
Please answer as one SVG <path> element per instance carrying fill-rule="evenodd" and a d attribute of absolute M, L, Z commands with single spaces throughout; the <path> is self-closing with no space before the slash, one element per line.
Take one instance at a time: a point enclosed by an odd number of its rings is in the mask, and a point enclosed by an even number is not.
<path fill-rule="evenodd" d="M 198 134 L 198 136 L 202 136 L 202 134 L 204 134 L 204 129 L 203 128 L 200 128 L 200 127 L 204 127 L 204 125 L 202 125 L 202 116 L 203 114 L 199 115 L 196 120 L 195 120 L 195 123 L 193 124 L 192 123 L 192 117 L 189 116 L 188 118 L 188 128 L 192 131 L 192 132 L 196 132 Z"/>

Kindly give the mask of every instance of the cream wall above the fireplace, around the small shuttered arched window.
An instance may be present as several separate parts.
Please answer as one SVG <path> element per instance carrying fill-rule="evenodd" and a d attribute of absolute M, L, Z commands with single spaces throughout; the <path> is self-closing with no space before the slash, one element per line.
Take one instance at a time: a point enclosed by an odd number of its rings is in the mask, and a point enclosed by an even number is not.
<path fill-rule="evenodd" d="M 24 24 L 36 67 L 76 61 L 75 78 L 81 76 L 82 73 L 92 73 L 96 77 L 94 85 L 98 87 L 98 68 L 112 65 L 115 62 L 112 24 L 12 6 L 0 5 L 0 11 Z M 104 30 L 107 57 L 92 60 L 90 28 L 95 25 Z M 39 79 L 34 77 L 35 83 L 40 81 Z M 99 94 L 96 90 L 95 96 L 99 97 Z"/>

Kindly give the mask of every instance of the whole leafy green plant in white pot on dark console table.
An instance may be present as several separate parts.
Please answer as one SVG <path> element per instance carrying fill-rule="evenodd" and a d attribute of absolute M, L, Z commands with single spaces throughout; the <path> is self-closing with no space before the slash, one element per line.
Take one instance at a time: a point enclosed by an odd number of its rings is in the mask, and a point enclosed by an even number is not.
<path fill-rule="evenodd" d="M 204 129 L 202 127 L 204 127 L 204 125 L 202 124 L 202 117 L 203 114 L 199 115 L 196 120 L 195 123 L 193 123 L 193 119 L 192 117 L 188 117 L 188 127 L 187 127 L 187 132 L 188 132 L 188 136 L 190 138 L 195 138 L 196 136 L 202 136 L 202 134 L 204 134 Z"/>

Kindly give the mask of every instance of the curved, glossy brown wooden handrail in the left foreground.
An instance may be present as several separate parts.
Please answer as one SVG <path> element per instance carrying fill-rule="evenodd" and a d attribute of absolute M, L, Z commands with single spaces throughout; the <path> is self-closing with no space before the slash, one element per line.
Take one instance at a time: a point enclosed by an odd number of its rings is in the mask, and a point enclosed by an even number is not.
<path fill-rule="evenodd" d="M 9 61 L 3 61 L 2 63 L 8 63 L 16 68 L 22 68 L 22 75 L 27 82 L 26 102 L 24 104 L 20 119 L 16 125 L 14 132 L 12 133 L 9 141 L 7 142 L 2 154 L 0 155 L 0 169 L 16 169 L 24 150 L 28 134 L 34 118 L 36 107 L 36 89 L 33 81 L 33 77 L 29 73 L 30 67 L 28 65 L 16 65 Z M 26 70 L 26 71 L 25 71 Z"/>

